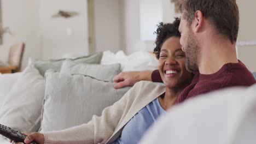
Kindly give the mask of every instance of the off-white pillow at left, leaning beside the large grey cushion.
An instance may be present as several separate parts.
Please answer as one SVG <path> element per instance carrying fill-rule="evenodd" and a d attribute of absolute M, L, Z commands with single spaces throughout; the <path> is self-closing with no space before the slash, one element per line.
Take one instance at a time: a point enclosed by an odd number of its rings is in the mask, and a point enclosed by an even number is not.
<path fill-rule="evenodd" d="M 37 131 L 44 98 L 45 81 L 28 66 L 3 101 L 0 123 L 21 131 Z"/>

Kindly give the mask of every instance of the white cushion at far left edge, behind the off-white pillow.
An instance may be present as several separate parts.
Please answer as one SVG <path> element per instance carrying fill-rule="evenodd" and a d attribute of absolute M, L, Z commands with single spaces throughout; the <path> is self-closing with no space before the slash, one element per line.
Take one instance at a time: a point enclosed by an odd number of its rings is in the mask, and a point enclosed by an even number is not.
<path fill-rule="evenodd" d="M 21 73 L 0 74 L 0 110 L 4 99 L 7 97 L 10 89 L 13 87 Z"/>

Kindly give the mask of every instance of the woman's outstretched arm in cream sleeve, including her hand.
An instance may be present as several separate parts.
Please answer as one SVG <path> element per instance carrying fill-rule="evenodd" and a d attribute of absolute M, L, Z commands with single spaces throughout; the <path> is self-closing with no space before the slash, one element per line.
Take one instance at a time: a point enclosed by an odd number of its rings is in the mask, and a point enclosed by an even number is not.
<path fill-rule="evenodd" d="M 138 84 L 138 85 L 137 85 Z M 53 131 L 48 133 L 28 133 L 30 143 L 32 140 L 36 140 L 39 144 L 59 144 L 59 143 L 105 143 L 115 132 L 119 130 L 118 125 L 124 121 L 127 113 L 131 112 L 131 107 L 136 104 L 144 91 L 143 89 L 152 89 L 151 86 L 145 86 L 144 83 L 137 83 L 133 86 L 125 95 L 112 106 L 106 107 L 102 111 L 102 116 L 93 116 L 92 120 L 87 124 L 82 124 L 77 127 Z M 155 87 L 155 85 L 154 85 Z M 146 92 L 148 95 L 150 92 Z M 144 99 L 140 99 L 144 100 Z M 146 102 L 148 103 L 148 102 Z"/>

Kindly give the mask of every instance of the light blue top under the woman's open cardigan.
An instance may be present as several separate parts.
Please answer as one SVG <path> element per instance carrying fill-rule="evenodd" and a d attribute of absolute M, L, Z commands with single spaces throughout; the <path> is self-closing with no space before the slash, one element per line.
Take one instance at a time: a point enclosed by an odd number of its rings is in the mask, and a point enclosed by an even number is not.
<path fill-rule="evenodd" d="M 138 143 L 150 125 L 152 125 L 162 113 L 165 113 L 165 110 L 162 109 L 158 98 L 156 98 L 130 119 L 125 125 L 121 135 L 112 144 Z"/>

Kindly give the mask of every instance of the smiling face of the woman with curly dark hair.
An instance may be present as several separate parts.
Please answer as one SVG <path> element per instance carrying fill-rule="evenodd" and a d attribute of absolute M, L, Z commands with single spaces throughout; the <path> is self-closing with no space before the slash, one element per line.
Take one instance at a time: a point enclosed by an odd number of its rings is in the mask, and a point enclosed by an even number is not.
<path fill-rule="evenodd" d="M 192 74 L 185 68 L 185 53 L 179 43 L 179 37 L 170 37 L 162 44 L 158 69 L 168 88 L 185 88 Z"/>

